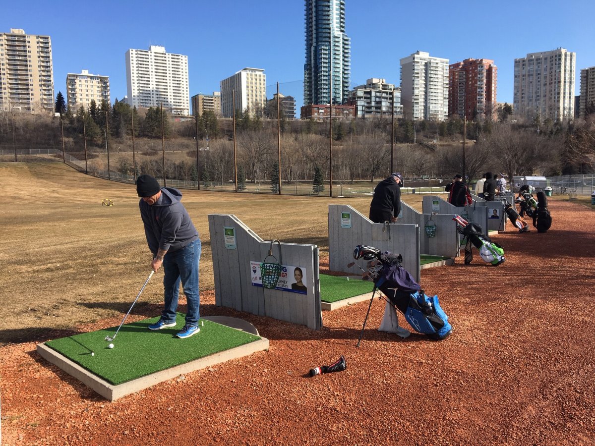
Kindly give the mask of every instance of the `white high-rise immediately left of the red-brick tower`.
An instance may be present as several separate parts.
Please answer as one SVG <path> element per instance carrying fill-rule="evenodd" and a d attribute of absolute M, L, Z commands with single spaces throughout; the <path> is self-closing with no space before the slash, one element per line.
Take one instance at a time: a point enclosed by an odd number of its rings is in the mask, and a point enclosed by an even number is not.
<path fill-rule="evenodd" d="M 448 118 L 449 59 L 424 51 L 400 59 L 403 116 L 414 121 Z"/>

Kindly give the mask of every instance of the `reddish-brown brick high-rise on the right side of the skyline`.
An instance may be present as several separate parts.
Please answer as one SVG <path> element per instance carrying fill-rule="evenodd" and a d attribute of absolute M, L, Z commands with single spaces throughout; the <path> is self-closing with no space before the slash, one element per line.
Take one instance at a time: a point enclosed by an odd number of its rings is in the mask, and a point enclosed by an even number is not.
<path fill-rule="evenodd" d="M 465 59 L 449 65 L 448 115 L 473 119 L 496 111 L 498 68 L 490 59 Z"/>

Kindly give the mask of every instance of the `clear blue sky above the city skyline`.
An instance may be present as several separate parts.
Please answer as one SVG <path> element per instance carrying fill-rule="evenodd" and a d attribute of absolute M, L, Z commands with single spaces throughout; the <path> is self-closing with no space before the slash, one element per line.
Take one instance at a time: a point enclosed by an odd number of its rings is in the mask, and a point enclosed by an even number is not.
<path fill-rule="evenodd" d="M 7 11 L 7 10 L 5 10 Z M 126 95 L 124 54 L 163 45 L 188 56 L 190 96 L 219 90 L 245 67 L 264 68 L 267 93 L 303 100 L 303 0 L 11 2 L 0 32 L 11 28 L 52 39 L 55 93 L 67 73 L 109 76 L 112 101 Z M 499 102 L 512 102 L 513 62 L 563 47 L 581 68 L 595 65 L 595 1 L 346 0 L 351 84 L 382 77 L 399 85 L 399 59 L 421 50 L 450 63 L 493 59 Z"/>

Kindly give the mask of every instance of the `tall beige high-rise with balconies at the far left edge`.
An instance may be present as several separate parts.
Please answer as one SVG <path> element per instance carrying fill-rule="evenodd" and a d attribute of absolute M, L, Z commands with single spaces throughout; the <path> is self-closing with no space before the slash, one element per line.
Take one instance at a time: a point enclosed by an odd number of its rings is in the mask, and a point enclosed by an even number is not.
<path fill-rule="evenodd" d="M 22 29 L 0 33 L 0 109 L 54 111 L 52 42 Z"/>

